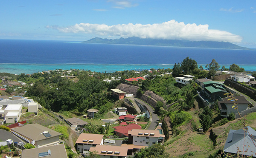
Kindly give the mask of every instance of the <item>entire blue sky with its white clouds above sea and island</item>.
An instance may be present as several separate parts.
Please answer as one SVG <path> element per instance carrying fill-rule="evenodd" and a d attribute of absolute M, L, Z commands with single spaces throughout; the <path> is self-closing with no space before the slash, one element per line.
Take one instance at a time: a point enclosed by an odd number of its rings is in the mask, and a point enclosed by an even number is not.
<path fill-rule="evenodd" d="M 0 0 L 0 39 L 127 37 L 256 48 L 255 0 Z"/>

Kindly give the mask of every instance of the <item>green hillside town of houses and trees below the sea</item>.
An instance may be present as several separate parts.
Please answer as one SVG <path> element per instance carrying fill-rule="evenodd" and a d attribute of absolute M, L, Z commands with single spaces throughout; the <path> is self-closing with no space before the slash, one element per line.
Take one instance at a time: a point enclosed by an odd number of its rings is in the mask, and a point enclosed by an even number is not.
<path fill-rule="evenodd" d="M 255 73 L 189 60 L 1 73 L 0 158 L 256 157 Z"/>

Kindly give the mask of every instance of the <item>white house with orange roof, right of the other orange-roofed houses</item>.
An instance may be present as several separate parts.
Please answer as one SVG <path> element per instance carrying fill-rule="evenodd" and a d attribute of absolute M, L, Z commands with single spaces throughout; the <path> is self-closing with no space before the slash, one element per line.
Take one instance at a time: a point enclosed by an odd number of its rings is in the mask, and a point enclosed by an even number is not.
<path fill-rule="evenodd" d="M 160 134 L 159 130 L 130 130 L 128 131 L 128 144 L 151 146 L 162 142 L 165 135 Z"/>

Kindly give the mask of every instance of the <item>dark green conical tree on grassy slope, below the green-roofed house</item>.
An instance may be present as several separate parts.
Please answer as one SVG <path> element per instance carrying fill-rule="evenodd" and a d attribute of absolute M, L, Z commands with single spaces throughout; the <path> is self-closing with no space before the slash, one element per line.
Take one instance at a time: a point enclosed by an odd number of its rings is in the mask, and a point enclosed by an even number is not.
<path fill-rule="evenodd" d="M 204 110 L 199 115 L 199 118 L 199 122 L 201 123 L 204 132 L 207 132 L 212 124 L 212 110 L 209 108 L 209 106 L 204 107 Z"/>

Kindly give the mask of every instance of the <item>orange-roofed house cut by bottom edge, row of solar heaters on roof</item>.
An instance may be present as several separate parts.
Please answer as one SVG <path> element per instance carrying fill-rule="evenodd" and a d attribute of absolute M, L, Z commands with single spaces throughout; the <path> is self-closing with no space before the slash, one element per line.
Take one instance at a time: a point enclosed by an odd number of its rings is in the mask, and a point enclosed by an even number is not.
<path fill-rule="evenodd" d="M 90 152 L 95 152 L 100 158 L 126 158 L 128 147 L 96 145 L 90 148 Z"/>

